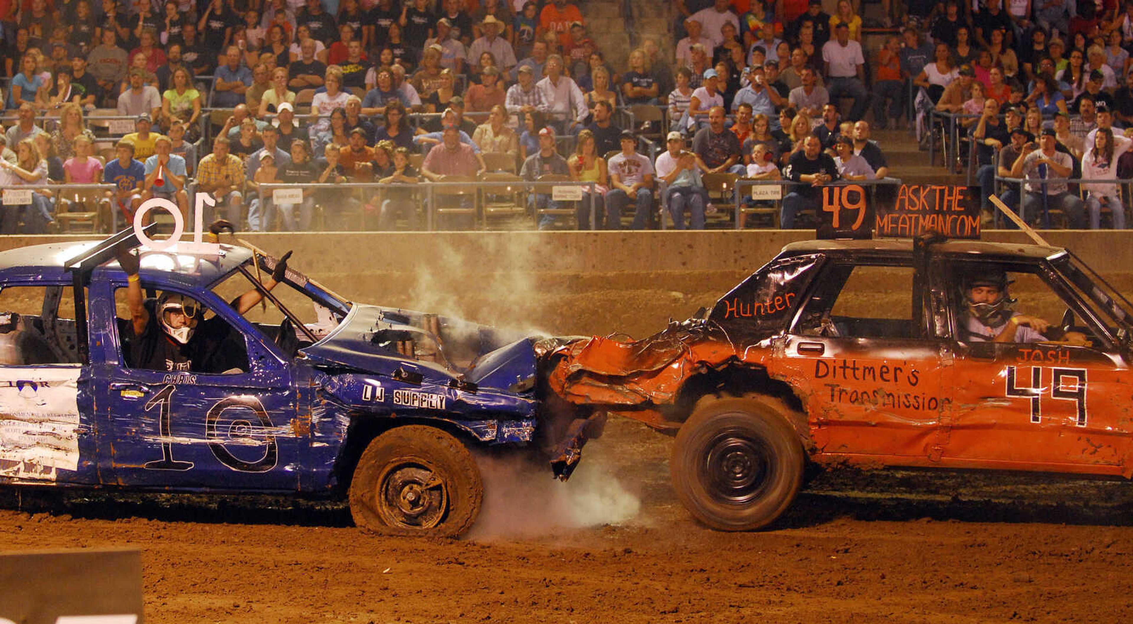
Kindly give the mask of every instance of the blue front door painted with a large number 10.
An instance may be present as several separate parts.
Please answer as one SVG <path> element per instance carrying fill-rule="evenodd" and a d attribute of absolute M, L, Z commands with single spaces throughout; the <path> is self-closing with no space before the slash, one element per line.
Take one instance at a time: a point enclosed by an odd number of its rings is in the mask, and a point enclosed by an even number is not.
<path fill-rule="evenodd" d="M 212 292 L 170 289 L 230 324 L 246 362 L 227 374 L 130 368 L 120 344 L 127 322 L 113 305 L 116 292 L 119 306 L 125 302 L 123 287 L 103 287 L 108 305 L 100 309 L 103 479 L 154 488 L 296 489 L 309 426 L 297 420 L 292 362 Z"/>

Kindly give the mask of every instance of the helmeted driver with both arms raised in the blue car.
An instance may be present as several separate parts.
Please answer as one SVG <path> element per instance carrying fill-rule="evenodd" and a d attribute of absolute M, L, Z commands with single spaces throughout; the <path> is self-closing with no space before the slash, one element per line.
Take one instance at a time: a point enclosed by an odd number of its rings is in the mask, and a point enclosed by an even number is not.
<path fill-rule="evenodd" d="M 227 221 L 219 220 L 208 230 L 215 237 L 222 230 L 231 231 Z M 287 274 L 291 251 L 275 264 L 270 279 L 264 281 L 271 291 Z M 129 250 L 120 250 L 118 263 L 127 275 L 126 302 L 130 322 L 122 336 L 122 351 L 130 368 L 187 373 L 240 373 L 247 369 L 247 348 L 244 336 L 223 318 L 205 318 L 205 308 L 186 294 L 164 291 L 156 299 L 146 299 L 138 276 L 140 260 Z M 233 299 L 230 305 L 245 314 L 263 296 L 253 288 Z"/>

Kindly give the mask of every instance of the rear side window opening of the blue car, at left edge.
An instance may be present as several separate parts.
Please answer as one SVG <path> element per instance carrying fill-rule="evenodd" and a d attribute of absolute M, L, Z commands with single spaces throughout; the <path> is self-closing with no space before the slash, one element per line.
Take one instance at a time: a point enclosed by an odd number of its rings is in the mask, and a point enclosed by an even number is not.
<path fill-rule="evenodd" d="M 69 285 L 0 290 L 0 365 L 79 364 Z"/>

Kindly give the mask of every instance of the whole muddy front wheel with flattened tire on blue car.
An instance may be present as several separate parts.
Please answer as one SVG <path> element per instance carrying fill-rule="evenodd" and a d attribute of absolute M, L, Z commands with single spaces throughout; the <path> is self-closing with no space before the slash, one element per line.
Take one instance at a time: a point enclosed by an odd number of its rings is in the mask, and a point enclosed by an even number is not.
<path fill-rule="evenodd" d="M 483 502 L 484 481 L 468 447 L 421 425 L 374 438 L 350 480 L 355 524 L 381 533 L 458 537 Z"/>

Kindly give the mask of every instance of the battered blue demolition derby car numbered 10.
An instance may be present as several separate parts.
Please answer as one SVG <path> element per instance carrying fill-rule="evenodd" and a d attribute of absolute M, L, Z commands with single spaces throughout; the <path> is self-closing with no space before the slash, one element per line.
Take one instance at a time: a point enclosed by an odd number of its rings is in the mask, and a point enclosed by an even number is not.
<path fill-rule="evenodd" d="M 483 501 L 472 451 L 565 478 L 593 429 L 550 416 L 534 337 L 351 302 L 239 246 L 128 275 L 137 241 L 0 253 L 0 484 L 348 497 L 360 527 L 455 536 Z M 146 366 L 176 333 L 146 345 L 135 283 L 148 314 L 208 328 L 191 362 Z"/>

